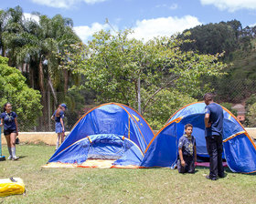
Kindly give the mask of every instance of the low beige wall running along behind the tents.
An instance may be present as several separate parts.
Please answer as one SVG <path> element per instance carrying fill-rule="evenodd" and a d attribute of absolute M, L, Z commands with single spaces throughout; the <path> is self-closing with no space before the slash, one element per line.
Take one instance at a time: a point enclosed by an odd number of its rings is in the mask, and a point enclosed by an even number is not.
<path fill-rule="evenodd" d="M 256 139 L 256 128 L 245 128 L 251 138 Z M 156 132 L 156 131 L 155 131 Z M 69 132 L 65 133 L 66 135 Z M 55 145 L 57 140 L 57 133 L 55 132 L 19 132 L 18 138 L 21 143 L 40 143 L 47 145 Z M 5 136 L 2 134 L 2 144 L 6 144 Z"/>

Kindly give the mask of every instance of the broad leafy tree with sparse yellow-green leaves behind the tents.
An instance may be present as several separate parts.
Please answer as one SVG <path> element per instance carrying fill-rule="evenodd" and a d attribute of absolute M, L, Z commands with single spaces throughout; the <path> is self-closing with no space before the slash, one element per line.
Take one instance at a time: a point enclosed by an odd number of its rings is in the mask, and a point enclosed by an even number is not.
<path fill-rule="evenodd" d="M 176 36 L 144 43 L 130 38 L 130 33 L 98 32 L 88 45 L 74 45 L 75 52 L 67 51 L 62 67 L 84 75 L 85 87 L 95 90 L 99 101 L 121 102 L 136 109 L 141 102 L 142 114 L 166 88 L 193 97 L 209 90 L 208 83 L 200 80 L 202 76 L 222 75 L 225 65 L 218 62 L 219 56 L 183 52 L 183 41 Z"/>

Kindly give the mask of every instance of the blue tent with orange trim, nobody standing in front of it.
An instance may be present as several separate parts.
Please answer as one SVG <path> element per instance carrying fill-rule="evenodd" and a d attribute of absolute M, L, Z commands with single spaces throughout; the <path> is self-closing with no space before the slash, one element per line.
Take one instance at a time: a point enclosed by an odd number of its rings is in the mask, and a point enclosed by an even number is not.
<path fill-rule="evenodd" d="M 153 137 L 153 130 L 133 108 L 103 104 L 80 118 L 48 163 L 81 164 L 91 158 L 139 166 Z"/>

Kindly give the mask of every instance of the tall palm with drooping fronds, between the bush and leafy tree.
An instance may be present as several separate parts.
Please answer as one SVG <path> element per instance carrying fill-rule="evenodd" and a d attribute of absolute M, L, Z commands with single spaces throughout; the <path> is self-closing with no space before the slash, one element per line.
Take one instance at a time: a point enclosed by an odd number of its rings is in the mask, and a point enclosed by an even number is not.
<path fill-rule="evenodd" d="M 59 57 L 56 53 L 62 53 L 69 44 L 80 42 L 80 38 L 71 28 L 71 19 L 63 18 L 61 15 L 55 15 L 53 18 L 37 15 L 39 24 L 32 19 L 24 24 L 27 31 L 24 34 L 25 45 L 19 49 L 17 63 L 29 65 L 29 73 L 33 75 L 29 77 L 33 80 L 31 84 L 38 88 L 42 95 L 41 127 L 49 129 L 51 107 L 55 108 L 59 103 L 57 92 L 61 91 L 66 95 L 69 87 L 70 74 L 67 70 L 59 70 Z M 34 78 L 37 78 L 36 82 Z M 50 105 L 49 91 L 54 98 L 53 106 Z M 61 102 L 63 99 L 61 98 Z"/>

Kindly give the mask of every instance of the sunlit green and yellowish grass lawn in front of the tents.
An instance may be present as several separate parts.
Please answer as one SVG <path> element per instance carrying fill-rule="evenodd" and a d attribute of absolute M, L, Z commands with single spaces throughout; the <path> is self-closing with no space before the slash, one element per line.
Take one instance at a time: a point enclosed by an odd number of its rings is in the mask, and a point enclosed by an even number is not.
<path fill-rule="evenodd" d="M 256 175 L 232 173 L 205 179 L 208 168 L 194 175 L 169 168 L 41 168 L 54 147 L 18 145 L 17 161 L 0 161 L 0 179 L 19 177 L 26 195 L 0 203 L 256 203 Z M 7 147 L 3 155 L 8 157 Z"/>

